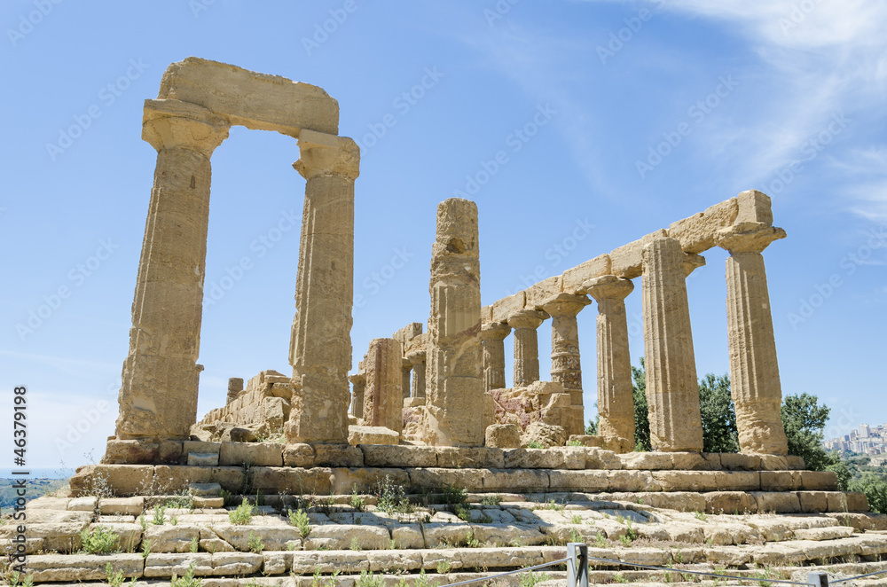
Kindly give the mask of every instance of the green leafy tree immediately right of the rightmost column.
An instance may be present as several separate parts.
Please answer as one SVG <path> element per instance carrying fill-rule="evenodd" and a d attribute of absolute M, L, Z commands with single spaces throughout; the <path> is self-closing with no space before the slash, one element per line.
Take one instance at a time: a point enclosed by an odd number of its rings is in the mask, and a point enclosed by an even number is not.
<path fill-rule="evenodd" d="M 804 458 L 811 471 L 825 471 L 836 461 L 822 448 L 822 430 L 828 421 L 828 407 L 816 395 L 786 395 L 782 399 L 782 426 L 789 440 L 789 455 Z"/>

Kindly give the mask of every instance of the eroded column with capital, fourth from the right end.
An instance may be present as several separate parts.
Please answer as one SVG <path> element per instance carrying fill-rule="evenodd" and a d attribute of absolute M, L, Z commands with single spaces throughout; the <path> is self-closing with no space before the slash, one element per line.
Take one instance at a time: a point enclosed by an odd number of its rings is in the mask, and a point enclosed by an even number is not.
<path fill-rule="evenodd" d="M 561 383 L 570 397 L 567 434 L 585 434 L 576 317 L 589 303 L 591 301 L 585 295 L 558 294 L 542 304 L 542 309 L 552 317 L 552 380 Z"/>

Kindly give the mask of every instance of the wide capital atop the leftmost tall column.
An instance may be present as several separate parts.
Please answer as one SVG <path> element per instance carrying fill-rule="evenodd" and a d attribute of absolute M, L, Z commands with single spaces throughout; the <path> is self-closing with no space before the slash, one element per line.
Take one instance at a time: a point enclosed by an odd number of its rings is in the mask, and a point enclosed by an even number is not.
<path fill-rule="evenodd" d="M 145 100 L 142 138 L 157 151 L 183 147 L 209 158 L 231 125 L 207 108 L 179 100 Z"/>

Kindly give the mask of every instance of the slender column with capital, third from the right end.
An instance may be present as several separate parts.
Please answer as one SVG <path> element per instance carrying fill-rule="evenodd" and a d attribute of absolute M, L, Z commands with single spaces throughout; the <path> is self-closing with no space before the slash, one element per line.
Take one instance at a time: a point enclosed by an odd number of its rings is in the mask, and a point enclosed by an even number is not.
<path fill-rule="evenodd" d="M 625 298 L 634 284 L 631 279 L 605 275 L 583 286 L 598 302 L 598 434 L 625 438 L 634 446 L 632 356 L 625 316 Z"/>

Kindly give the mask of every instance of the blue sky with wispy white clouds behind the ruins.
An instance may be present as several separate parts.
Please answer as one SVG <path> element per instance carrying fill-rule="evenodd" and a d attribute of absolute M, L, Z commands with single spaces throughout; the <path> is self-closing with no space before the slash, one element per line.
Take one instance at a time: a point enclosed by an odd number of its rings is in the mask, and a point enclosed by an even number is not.
<path fill-rule="evenodd" d="M 0 388 L 28 388 L 31 466 L 98 461 L 114 434 L 155 162 L 142 103 L 191 55 L 339 101 L 363 147 L 355 367 L 370 339 L 427 320 L 436 205 L 454 194 L 479 208 L 488 304 L 755 188 L 789 234 L 765 251 L 783 392 L 832 407 L 828 435 L 887 421 L 876 0 L 36 0 L 0 22 Z M 205 307 L 200 415 L 229 377 L 289 372 L 299 235 L 275 227 L 301 215 L 298 156 L 240 127 L 213 156 L 205 291 L 252 264 Z M 700 376 L 728 370 L 726 253 L 705 256 L 687 281 Z M 640 287 L 627 306 L 637 364 Z M 579 315 L 588 418 L 595 314 Z"/>

